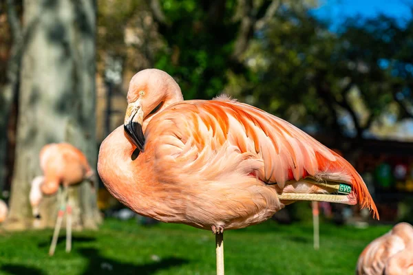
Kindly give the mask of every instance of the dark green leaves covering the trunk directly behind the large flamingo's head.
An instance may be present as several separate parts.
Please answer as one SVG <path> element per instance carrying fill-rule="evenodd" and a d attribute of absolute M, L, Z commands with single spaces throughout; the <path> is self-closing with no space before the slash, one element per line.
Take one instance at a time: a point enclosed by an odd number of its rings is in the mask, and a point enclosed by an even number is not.
<path fill-rule="evenodd" d="M 214 4 L 204 1 L 162 1 L 167 47 L 156 67 L 178 78 L 186 99 L 210 99 L 224 89 L 238 25 L 232 20 L 237 1 L 225 3 L 223 14 L 211 14 Z"/>

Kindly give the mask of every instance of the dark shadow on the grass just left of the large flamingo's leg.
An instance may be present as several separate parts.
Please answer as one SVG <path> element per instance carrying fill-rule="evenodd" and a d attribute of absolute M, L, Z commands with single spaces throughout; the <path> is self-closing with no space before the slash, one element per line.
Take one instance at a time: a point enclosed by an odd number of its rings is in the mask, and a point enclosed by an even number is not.
<path fill-rule="evenodd" d="M 160 259 L 153 263 L 147 263 L 142 265 L 134 265 L 132 263 L 120 263 L 113 259 L 105 258 L 101 256 L 95 248 L 82 248 L 78 250 L 85 259 L 89 261 L 83 275 L 89 274 L 153 274 L 158 270 L 167 270 L 170 267 L 184 265 L 189 263 L 186 259 L 180 258 L 167 258 Z"/>

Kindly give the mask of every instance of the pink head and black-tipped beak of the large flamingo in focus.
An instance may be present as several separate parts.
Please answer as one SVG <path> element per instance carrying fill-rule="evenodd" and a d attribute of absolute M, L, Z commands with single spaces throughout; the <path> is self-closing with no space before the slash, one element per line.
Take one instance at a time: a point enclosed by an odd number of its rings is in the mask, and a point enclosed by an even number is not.
<path fill-rule="evenodd" d="M 144 69 L 131 79 L 127 91 L 124 129 L 129 141 L 144 151 L 145 135 L 142 124 L 173 102 L 182 101 L 178 83 L 159 69 Z"/>

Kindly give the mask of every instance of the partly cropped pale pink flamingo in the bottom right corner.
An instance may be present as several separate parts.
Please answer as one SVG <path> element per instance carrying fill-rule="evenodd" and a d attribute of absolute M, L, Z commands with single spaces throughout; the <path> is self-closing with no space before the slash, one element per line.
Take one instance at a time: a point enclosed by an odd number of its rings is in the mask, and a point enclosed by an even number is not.
<path fill-rule="evenodd" d="M 357 275 L 413 274 L 413 226 L 397 223 L 359 256 Z"/>

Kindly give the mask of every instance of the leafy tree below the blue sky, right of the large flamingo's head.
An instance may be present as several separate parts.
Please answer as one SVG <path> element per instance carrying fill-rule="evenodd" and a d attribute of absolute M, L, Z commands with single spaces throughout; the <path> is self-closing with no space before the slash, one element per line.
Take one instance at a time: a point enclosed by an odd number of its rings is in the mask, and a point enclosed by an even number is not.
<path fill-rule="evenodd" d="M 334 135 L 331 146 L 360 148 L 395 103 L 399 120 L 412 111 L 412 22 L 402 27 L 388 17 L 354 20 L 332 33 L 305 9 L 286 7 L 246 54 L 254 78 L 235 77 L 229 91 Z"/>

